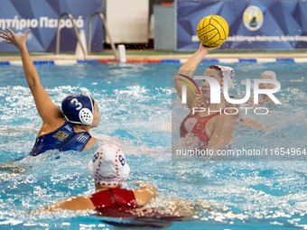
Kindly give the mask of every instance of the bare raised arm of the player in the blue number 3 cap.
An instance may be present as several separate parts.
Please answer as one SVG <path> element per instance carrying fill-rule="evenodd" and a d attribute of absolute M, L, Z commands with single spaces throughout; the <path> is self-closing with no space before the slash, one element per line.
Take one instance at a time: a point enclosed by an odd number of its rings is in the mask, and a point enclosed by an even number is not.
<path fill-rule="evenodd" d="M 5 39 L 6 43 L 12 43 L 20 52 L 23 61 L 23 71 L 28 86 L 33 94 L 36 109 L 42 117 L 43 123 L 52 124 L 55 119 L 63 117 L 60 108 L 56 106 L 48 96 L 46 90 L 42 87 L 39 75 L 33 65 L 30 54 L 26 48 L 26 37 L 30 30 L 19 36 L 12 30 L 6 28 L 8 32 L 0 31 L 0 37 Z"/>

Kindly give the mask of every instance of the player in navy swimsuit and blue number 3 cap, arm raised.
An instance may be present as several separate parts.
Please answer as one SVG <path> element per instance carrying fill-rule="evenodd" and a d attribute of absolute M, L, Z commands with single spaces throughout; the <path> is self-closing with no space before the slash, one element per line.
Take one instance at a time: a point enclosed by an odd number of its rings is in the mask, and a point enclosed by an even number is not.
<path fill-rule="evenodd" d="M 14 44 L 20 51 L 24 75 L 33 94 L 37 111 L 42 117 L 42 127 L 30 155 L 36 156 L 54 149 L 88 150 L 97 141 L 88 133 L 90 128 L 97 127 L 99 123 L 100 115 L 96 101 L 85 95 L 69 96 L 62 101 L 61 111 L 42 87 L 26 48 L 26 37 L 30 30 L 21 36 L 8 28 L 6 30 L 9 33 L 1 31 L 1 38 L 7 43 Z"/>

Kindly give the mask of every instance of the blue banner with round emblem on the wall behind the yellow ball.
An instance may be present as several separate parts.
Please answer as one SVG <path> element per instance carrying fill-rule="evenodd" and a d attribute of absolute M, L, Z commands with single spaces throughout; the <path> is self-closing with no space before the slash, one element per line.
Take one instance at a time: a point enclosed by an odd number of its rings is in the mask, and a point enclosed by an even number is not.
<path fill-rule="evenodd" d="M 177 50 L 195 51 L 200 45 L 200 20 L 217 14 L 229 25 L 221 49 L 293 50 L 307 48 L 307 2 L 189 1 L 177 3 Z"/>

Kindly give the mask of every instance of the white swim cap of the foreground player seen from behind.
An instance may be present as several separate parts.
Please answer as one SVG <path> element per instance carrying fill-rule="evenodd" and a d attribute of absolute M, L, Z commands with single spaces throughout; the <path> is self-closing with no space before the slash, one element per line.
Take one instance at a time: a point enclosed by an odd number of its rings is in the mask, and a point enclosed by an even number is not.
<path fill-rule="evenodd" d="M 118 186 L 129 176 L 125 153 L 115 144 L 104 144 L 88 162 L 89 175 L 100 185 Z"/>

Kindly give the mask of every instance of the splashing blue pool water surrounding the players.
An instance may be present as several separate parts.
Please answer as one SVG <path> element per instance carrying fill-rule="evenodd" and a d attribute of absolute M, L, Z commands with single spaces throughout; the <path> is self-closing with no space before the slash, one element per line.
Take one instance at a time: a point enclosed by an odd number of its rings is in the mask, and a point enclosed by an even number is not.
<path fill-rule="evenodd" d="M 200 68 L 211 64 L 204 62 Z M 245 78 L 275 70 L 282 85 L 276 97 L 283 103 L 270 108 L 265 117 L 251 115 L 267 128 L 237 128 L 231 147 L 307 148 L 306 65 L 247 62 L 231 66 L 236 70 L 237 93 Z M 77 93 L 98 101 L 101 120 L 92 134 L 126 151 L 131 168 L 126 188 L 135 188 L 133 180 L 148 181 L 160 192 L 150 207 L 189 217 L 144 222 L 82 212 L 26 214 L 63 198 L 94 192 L 86 163 L 92 150 L 47 152 L 19 163 L 23 173 L 0 171 L 0 228 L 115 229 L 116 223 L 122 223 L 133 229 L 146 223 L 169 229 L 306 229 L 306 161 L 172 161 L 172 75 L 180 67 L 179 63 L 111 63 L 37 69 L 57 105 Z M 23 68 L 0 69 L 0 162 L 7 162 L 31 151 L 42 121 Z M 182 109 L 183 117 L 185 113 Z M 55 160 L 58 155 L 60 159 Z"/>

